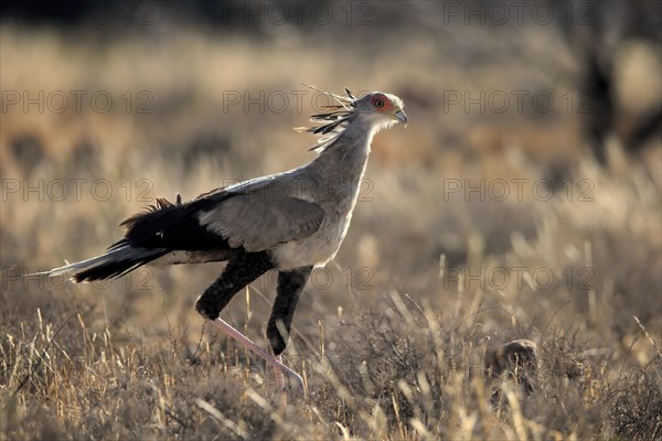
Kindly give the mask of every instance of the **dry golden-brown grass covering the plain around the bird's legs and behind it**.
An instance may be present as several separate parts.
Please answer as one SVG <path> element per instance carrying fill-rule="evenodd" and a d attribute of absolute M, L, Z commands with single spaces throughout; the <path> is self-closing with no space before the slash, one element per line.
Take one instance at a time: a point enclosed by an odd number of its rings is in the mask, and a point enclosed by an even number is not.
<path fill-rule="evenodd" d="M 3 90 L 154 97 L 153 114 L 2 114 L 1 440 L 662 437 L 660 139 L 638 158 L 615 140 L 601 168 L 583 150 L 576 114 L 442 110 L 445 90 L 572 89 L 576 67 L 553 32 L 371 40 L 384 52 L 365 56 L 291 35 L 170 31 L 102 42 L 0 31 Z M 459 41 L 492 44 L 501 57 L 474 65 Z M 282 114 L 223 109 L 224 92 L 299 83 L 393 92 L 412 121 L 376 139 L 348 239 L 297 311 L 285 358 L 305 375 L 305 399 L 274 391 L 264 364 L 193 312 L 217 265 L 102 287 L 19 277 L 99 252 L 156 196 L 189 198 L 309 160 L 312 139 L 289 130 L 306 122 L 309 103 Z M 79 200 L 44 191 L 40 201 L 6 186 L 72 178 L 107 180 L 114 193 L 95 200 L 83 184 Z M 481 179 L 523 179 L 525 193 L 481 201 L 445 191 Z M 553 197 L 531 193 L 541 180 Z M 224 312 L 259 343 L 273 280 Z M 485 370 L 485 354 L 515 338 L 537 344 L 531 388 Z"/>

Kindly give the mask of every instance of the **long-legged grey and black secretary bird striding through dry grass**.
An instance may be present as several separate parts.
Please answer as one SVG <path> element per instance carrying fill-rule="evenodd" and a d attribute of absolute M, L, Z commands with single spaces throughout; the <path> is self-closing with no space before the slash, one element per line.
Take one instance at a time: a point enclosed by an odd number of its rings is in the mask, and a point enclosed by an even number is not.
<path fill-rule="evenodd" d="M 321 135 L 310 163 L 284 173 L 213 190 L 185 203 L 158 200 L 146 213 L 121 223 L 125 237 L 102 256 L 46 271 L 76 282 L 124 276 L 143 265 L 201 263 L 227 266 L 195 302 L 195 310 L 222 332 L 270 363 L 282 386 L 293 370 L 280 362 L 295 308 L 310 272 L 333 259 L 350 226 L 373 136 L 407 122 L 403 100 L 373 92 L 362 98 L 325 93 L 338 104 L 313 115 Z M 267 337 L 274 355 L 259 348 L 218 314 L 232 298 L 268 270 L 278 286 Z"/>

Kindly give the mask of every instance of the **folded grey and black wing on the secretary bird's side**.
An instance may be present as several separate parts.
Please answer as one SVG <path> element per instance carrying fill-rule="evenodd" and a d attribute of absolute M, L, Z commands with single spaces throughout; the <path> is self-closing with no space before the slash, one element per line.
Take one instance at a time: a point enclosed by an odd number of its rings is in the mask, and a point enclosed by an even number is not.
<path fill-rule="evenodd" d="M 261 251 L 314 233 L 319 205 L 256 183 L 202 195 L 184 204 L 159 204 L 125 220 L 127 233 L 114 247 L 205 251 Z M 276 194 L 278 193 L 278 194 Z"/>

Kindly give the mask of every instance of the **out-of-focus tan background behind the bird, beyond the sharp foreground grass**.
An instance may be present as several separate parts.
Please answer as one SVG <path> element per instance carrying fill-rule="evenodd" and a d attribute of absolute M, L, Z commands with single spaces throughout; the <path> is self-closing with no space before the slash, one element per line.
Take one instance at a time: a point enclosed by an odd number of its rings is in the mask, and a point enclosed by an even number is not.
<path fill-rule="evenodd" d="M 83 287 L 22 275 L 99 254 L 156 197 L 312 160 L 316 139 L 291 128 L 330 104 L 314 85 L 395 94 L 409 123 L 375 138 L 345 243 L 297 310 L 295 353 L 398 292 L 441 323 L 471 318 L 477 344 L 572 329 L 608 366 L 653 358 L 660 2 L 36 4 L 0 7 L 7 335 L 38 309 L 57 322 L 77 308 L 116 341 L 160 345 L 174 326 L 194 348 L 192 306 L 221 265 Z M 224 312 L 260 343 L 274 280 Z"/>

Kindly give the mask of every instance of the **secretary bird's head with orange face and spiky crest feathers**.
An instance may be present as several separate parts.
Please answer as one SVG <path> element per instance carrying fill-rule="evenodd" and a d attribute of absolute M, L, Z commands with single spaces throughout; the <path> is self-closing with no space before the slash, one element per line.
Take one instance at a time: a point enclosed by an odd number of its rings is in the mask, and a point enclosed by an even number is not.
<path fill-rule="evenodd" d="M 308 131 L 322 136 L 318 144 L 310 150 L 323 150 L 338 139 L 353 121 L 363 123 L 365 129 L 371 130 L 373 133 L 382 129 L 387 129 L 398 122 L 407 125 L 407 116 L 403 110 L 405 104 L 395 95 L 372 92 L 361 98 L 356 98 L 348 89 L 345 89 L 346 96 L 342 96 L 318 89 L 317 87 L 309 87 L 323 92 L 338 101 L 335 105 L 324 106 L 324 108 L 329 109 L 328 112 L 310 117 L 312 122 L 321 123 L 321 126 L 295 128 L 298 131 Z"/>

